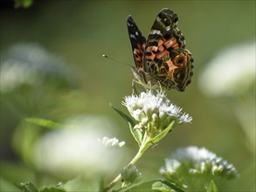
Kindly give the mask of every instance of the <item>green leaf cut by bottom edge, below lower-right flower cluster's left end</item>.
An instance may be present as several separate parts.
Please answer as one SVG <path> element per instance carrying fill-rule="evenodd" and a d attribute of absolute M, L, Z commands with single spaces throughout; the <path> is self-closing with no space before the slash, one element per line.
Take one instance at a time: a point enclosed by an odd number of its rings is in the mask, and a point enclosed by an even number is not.
<path fill-rule="evenodd" d="M 152 189 L 156 189 L 162 192 L 183 192 L 183 189 L 180 189 L 176 183 L 168 181 L 154 182 Z"/>

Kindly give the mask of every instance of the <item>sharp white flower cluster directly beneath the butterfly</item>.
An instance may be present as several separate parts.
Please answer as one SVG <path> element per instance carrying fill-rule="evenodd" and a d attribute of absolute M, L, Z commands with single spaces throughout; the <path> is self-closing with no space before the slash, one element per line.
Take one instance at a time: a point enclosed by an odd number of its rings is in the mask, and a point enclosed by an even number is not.
<path fill-rule="evenodd" d="M 160 130 L 170 125 L 173 120 L 176 124 L 190 123 L 192 118 L 182 113 L 182 108 L 174 105 L 163 91 L 147 91 L 140 95 L 125 97 L 124 106 L 139 123 L 135 128 L 149 128 L 154 125 Z"/>

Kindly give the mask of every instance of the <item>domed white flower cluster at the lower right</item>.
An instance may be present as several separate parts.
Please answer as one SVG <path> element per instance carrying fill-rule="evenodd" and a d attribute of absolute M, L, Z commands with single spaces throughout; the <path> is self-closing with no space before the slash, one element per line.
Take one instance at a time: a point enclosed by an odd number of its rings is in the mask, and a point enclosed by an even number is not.
<path fill-rule="evenodd" d="M 160 168 L 160 173 L 170 177 L 171 175 L 176 175 L 179 169 L 186 170 L 187 174 L 190 175 L 221 175 L 227 179 L 235 178 L 239 175 L 232 164 L 204 147 L 177 149 L 170 159 L 165 160 L 165 167 Z"/>

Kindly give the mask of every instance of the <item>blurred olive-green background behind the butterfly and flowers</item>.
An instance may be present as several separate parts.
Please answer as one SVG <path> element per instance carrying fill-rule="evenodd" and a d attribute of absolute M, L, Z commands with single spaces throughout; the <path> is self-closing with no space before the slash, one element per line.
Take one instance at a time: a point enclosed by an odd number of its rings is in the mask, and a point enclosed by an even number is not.
<path fill-rule="evenodd" d="M 104 116 L 117 127 L 108 136 L 126 141 L 127 161 L 132 158 L 136 143 L 126 122 L 108 104 L 125 111 L 121 100 L 132 93 L 133 74 L 127 65 L 101 55 L 134 65 L 126 18 L 132 15 L 147 37 L 156 14 L 167 7 L 177 13 L 179 29 L 195 60 L 191 85 L 184 93 L 170 90 L 168 95 L 184 112 L 190 113 L 193 121 L 190 126 L 176 128 L 149 150 L 138 168 L 145 181 L 158 178 L 164 158 L 177 147 L 207 147 L 239 170 L 239 179 L 222 183 L 220 191 L 255 191 L 255 140 L 249 141 L 233 110 L 236 103 L 243 105 L 243 99 L 253 95 L 253 110 L 247 113 L 254 117 L 255 77 L 252 88 L 242 96 L 213 97 L 211 93 L 204 94 L 198 83 L 207 64 L 226 47 L 255 41 L 255 1 L 52 0 L 35 1 L 28 9 L 14 9 L 10 1 L 3 5 L 1 66 L 10 58 L 24 59 L 23 54 L 18 56 L 19 51 L 25 50 L 23 46 L 28 48 L 27 52 L 42 49 L 53 60 L 50 59 L 53 65 L 48 66 L 45 61 L 36 69 L 39 83 L 24 83 L 1 91 L 1 182 L 5 189 L 10 182 L 36 180 L 30 147 L 49 130 L 35 131 L 24 121 L 26 117 L 62 122 L 79 114 Z M 21 48 L 13 51 L 15 46 Z M 255 55 L 252 62 L 255 65 Z M 243 70 L 243 63 L 240 65 Z M 251 122 L 250 132 L 255 135 L 255 119 Z M 17 170 L 22 170 L 23 175 L 17 175 Z M 117 173 L 110 173 L 106 180 Z M 60 179 L 54 177 L 44 182 L 55 180 Z"/>

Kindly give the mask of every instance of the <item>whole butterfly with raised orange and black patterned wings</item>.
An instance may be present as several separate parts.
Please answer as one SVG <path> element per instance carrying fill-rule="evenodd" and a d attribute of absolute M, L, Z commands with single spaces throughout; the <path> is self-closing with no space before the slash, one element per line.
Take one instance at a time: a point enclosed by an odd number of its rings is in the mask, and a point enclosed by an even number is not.
<path fill-rule="evenodd" d="M 128 35 L 135 59 L 132 72 L 135 81 L 142 86 L 184 91 L 190 84 L 194 60 L 185 49 L 184 36 L 177 22 L 176 13 L 164 8 L 156 16 L 146 39 L 133 18 L 128 16 Z"/>

